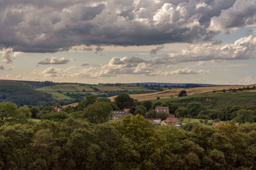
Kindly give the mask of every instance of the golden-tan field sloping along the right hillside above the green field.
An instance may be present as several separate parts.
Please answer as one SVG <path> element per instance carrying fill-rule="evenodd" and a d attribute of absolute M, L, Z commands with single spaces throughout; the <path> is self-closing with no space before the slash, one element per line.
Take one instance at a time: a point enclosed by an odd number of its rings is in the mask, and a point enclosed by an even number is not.
<path fill-rule="evenodd" d="M 223 89 L 239 89 L 243 87 L 253 87 L 253 85 L 236 85 L 236 86 L 220 86 L 220 87 L 195 87 L 195 88 L 188 88 L 188 89 L 171 89 L 166 90 L 163 92 L 155 92 L 155 93 L 149 93 L 149 94 L 131 94 L 131 97 L 133 99 L 138 99 L 138 101 L 149 101 L 154 100 L 157 97 L 160 97 L 160 99 L 167 99 L 170 97 L 178 97 L 178 94 L 181 90 L 186 90 L 188 95 L 193 94 L 205 94 L 205 93 L 212 93 L 214 90 L 223 90 Z M 113 101 L 113 99 L 116 96 L 109 97 Z"/>

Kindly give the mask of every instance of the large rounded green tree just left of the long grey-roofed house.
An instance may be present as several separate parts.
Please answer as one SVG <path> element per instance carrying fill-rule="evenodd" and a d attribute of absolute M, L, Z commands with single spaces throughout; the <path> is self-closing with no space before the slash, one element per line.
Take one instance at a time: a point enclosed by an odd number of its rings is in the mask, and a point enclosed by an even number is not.
<path fill-rule="evenodd" d="M 84 118 L 93 124 L 107 122 L 111 118 L 112 107 L 106 102 L 95 102 L 84 109 Z"/>

